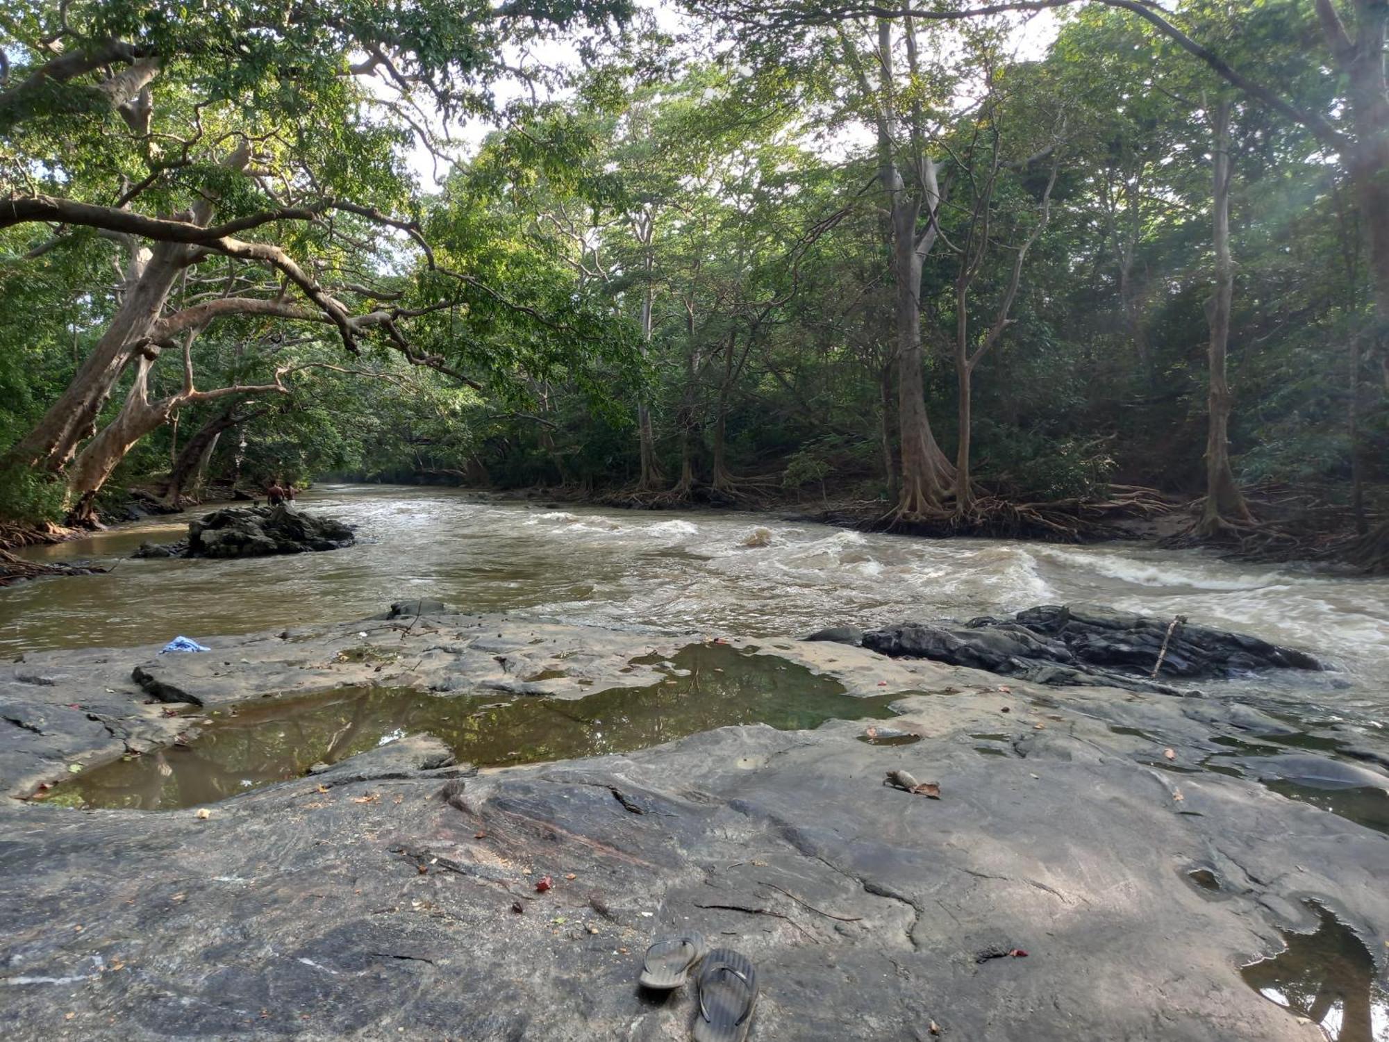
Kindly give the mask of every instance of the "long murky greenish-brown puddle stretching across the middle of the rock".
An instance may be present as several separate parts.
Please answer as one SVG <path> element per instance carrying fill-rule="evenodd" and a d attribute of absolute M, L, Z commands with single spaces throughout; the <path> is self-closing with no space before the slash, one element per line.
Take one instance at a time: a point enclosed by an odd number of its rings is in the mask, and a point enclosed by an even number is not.
<path fill-rule="evenodd" d="M 76 807 L 168 810 L 213 803 L 303 775 L 410 734 L 443 739 L 482 767 L 643 749 L 729 724 L 783 731 L 826 720 L 886 720 L 900 695 L 854 697 L 803 665 L 692 645 L 646 688 L 582 699 L 439 696 L 400 688 L 343 688 L 242 703 L 188 746 L 117 760 L 54 786 L 44 799 Z M 207 710 L 199 710 L 204 717 Z"/>

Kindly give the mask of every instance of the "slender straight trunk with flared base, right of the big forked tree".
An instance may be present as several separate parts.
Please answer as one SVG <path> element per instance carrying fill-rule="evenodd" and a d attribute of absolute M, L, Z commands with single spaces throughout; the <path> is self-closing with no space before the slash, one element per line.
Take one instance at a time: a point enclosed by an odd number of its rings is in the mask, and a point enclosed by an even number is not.
<path fill-rule="evenodd" d="M 1206 506 L 1197 532 L 1218 535 L 1231 521 L 1250 521 L 1249 507 L 1235 485 L 1229 465 L 1229 414 L 1233 397 L 1225 372 L 1229 343 L 1229 313 L 1235 293 L 1235 264 L 1229 251 L 1229 101 L 1215 104 L 1214 147 L 1211 150 L 1214 182 L 1211 210 L 1215 245 L 1215 295 L 1210 301 L 1210 393 L 1206 435 Z"/>

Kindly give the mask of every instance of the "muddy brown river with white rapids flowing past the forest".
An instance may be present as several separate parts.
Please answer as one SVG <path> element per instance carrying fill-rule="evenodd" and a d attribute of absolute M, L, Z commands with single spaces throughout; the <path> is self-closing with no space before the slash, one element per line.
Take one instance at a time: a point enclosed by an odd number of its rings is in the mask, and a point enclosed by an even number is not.
<path fill-rule="evenodd" d="M 763 514 L 547 508 L 440 488 L 324 485 L 300 506 L 354 525 L 361 545 L 250 561 L 126 560 L 143 540 L 181 538 L 188 518 L 174 517 L 32 552 L 117 567 L 0 590 L 0 653 L 144 645 L 176 634 L 206 642 L 360 618 L 410 597 L 708 636 L 1090 602 L 1179 613 L 1313 650 L 1336 672 L 1221 686 L 1367 729 L 1389 720 L 1389 579 L 1139 543 L 917 539 Z"/>

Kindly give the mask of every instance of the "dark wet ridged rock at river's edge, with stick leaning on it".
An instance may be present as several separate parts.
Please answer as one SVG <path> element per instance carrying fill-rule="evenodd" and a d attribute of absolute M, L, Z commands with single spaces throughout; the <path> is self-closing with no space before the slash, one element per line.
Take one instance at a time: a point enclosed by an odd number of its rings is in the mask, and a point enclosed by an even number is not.
<path fill-rule="evenodd" d="M 821 631 L 808 639 L 851 639 Z M 826 636 L 826 634 L 829 634 Z M 1245 634 L 1085 604 L 1047 604 L 964 625 L 906 622 L 863 634 L 882 654 L 931 659 L 1051 685 L 1118 685 L 1172 692 L 1158 679 L 1224 678 L 1256 670 L 1321 670 L 1310 654 Z"/>

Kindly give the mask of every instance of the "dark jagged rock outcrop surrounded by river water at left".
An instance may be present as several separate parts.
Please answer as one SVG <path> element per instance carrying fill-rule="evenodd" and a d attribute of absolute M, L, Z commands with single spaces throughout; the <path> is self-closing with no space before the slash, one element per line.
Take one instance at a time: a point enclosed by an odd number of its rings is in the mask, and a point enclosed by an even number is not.
<path fill-rule="evenodd" d="M 338 550 L 356 536 L 342 521 L 303 514 L 290 506 L 226 507 L 189 521 L 188 539 L 146 543 L 135 557 L 267 557 Z"/>

